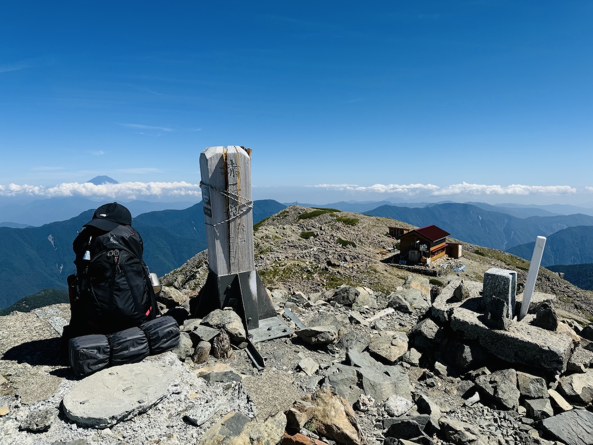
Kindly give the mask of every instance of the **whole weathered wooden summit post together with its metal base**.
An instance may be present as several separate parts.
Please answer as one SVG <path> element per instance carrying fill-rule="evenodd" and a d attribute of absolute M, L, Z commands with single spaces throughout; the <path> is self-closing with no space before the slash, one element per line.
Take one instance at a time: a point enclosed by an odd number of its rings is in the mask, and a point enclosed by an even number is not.
<path fill-rule="evenodd" d="M 253 342 L 290 335 L 255 270 L 251 149 L 209 147 L 200 154 L 202 203 L 208 243 L 206 284 L 192 300 L 193 316 L 232 307 Z"/>

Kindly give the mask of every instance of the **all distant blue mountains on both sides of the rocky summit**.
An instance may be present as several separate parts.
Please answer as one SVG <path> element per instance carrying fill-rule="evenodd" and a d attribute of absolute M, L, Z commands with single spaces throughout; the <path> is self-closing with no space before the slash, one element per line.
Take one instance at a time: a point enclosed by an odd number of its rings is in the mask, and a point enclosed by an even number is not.
<path fill-rule="evenodd" d="M 43 212 L 44 207 L 49 211 L 59 206 L 60 199 L 46 199 L 34 206 L 39 212 Z M 138 204 L 137 209 L 140 203 L 135 201 L 126 206 L 129 205 L 130 211 L 135 214 L 133 205 Z M 46 288 L 66 288 L 66 276 L 74 269 L 72 241 L 76 231 L 92 218 L 98 204 L 86 201 L 88 209 L 74 218 L 41 227 L 0 227 L 0 253 L 3 258 L 0 263 L 0 282 L 3 284 L 0 288 L 0 308 Z M 154 204 L 146 203 L 147 206 Z M 377 203 L 336 202 L 310 206 L 356 211 L 374 204 Z M 544 266 L 593 263 L 589 249 L 593 244 L 591 215 L 554 215 L 537 207 L 515 208 L 484 203 L 417 204 L 416 207 L 385 204 L 364 212 L 419 227 L 436 224 L 464 242 L 507 250 L 526 259 L 531 259 L 535 238 L 543 235 L 548 237 Z M 256 201 L 253 221 L 258 222 L 285 207 L 272 200 Z M 496 211 L 499 209 L 503 211 Z M 144 259 L 152 272 L 164 275 L 206 249 L 203 218 L 201 202 L 184 209 L 148 211 L 135 216 L 132 224 L 144 239 Z M 4 217 L 2 219 L 5 220 Z M 569 272 L 565 274 L 567 279 L 573 275 Z"/>

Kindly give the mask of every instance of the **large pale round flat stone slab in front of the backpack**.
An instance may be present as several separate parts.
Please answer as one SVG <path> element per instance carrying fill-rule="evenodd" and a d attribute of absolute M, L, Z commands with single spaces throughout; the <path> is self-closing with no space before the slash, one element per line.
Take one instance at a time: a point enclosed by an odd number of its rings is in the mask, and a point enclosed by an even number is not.
<path fill-rule="evenodd" d="M 148 411 L 180 374 L 164 363 L 105 368 L 76 383 L 64 396 L 66 416 L 79 426 L 107 428 Z"/>

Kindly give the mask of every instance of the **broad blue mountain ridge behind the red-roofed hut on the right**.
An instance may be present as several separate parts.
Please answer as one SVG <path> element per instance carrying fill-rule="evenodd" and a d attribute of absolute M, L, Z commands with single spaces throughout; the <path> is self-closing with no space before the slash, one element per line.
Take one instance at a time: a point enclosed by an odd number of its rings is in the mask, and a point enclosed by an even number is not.
<path fill-rule="evenodd" d="M 593 216 L 589 215 L 518 218 L 501 212 L 484 210 L 471 204 L 457 203 L 423 208 L 383 205 L 366 214 L 393 218 L 420 227 L 435 224 L 458 240 L 498 250 L 508 250 L 518 244 L 535 242 L 538 235 L 549 236 L 563 228 L 593 225 Z"/>

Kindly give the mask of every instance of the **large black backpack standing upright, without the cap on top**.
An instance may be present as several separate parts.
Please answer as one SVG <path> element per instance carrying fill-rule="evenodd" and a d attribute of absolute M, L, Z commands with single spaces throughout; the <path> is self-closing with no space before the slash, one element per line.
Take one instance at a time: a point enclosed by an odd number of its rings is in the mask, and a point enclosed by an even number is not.
<path fill-rule="evenodd" d="M 131 225 L 104 231 L 85 225 L 72 248 L 68 277 L 71 321 L 64 337 L 110 334 L 155 319 L 157 298 L 142 261 L 142 237 Z"/>

